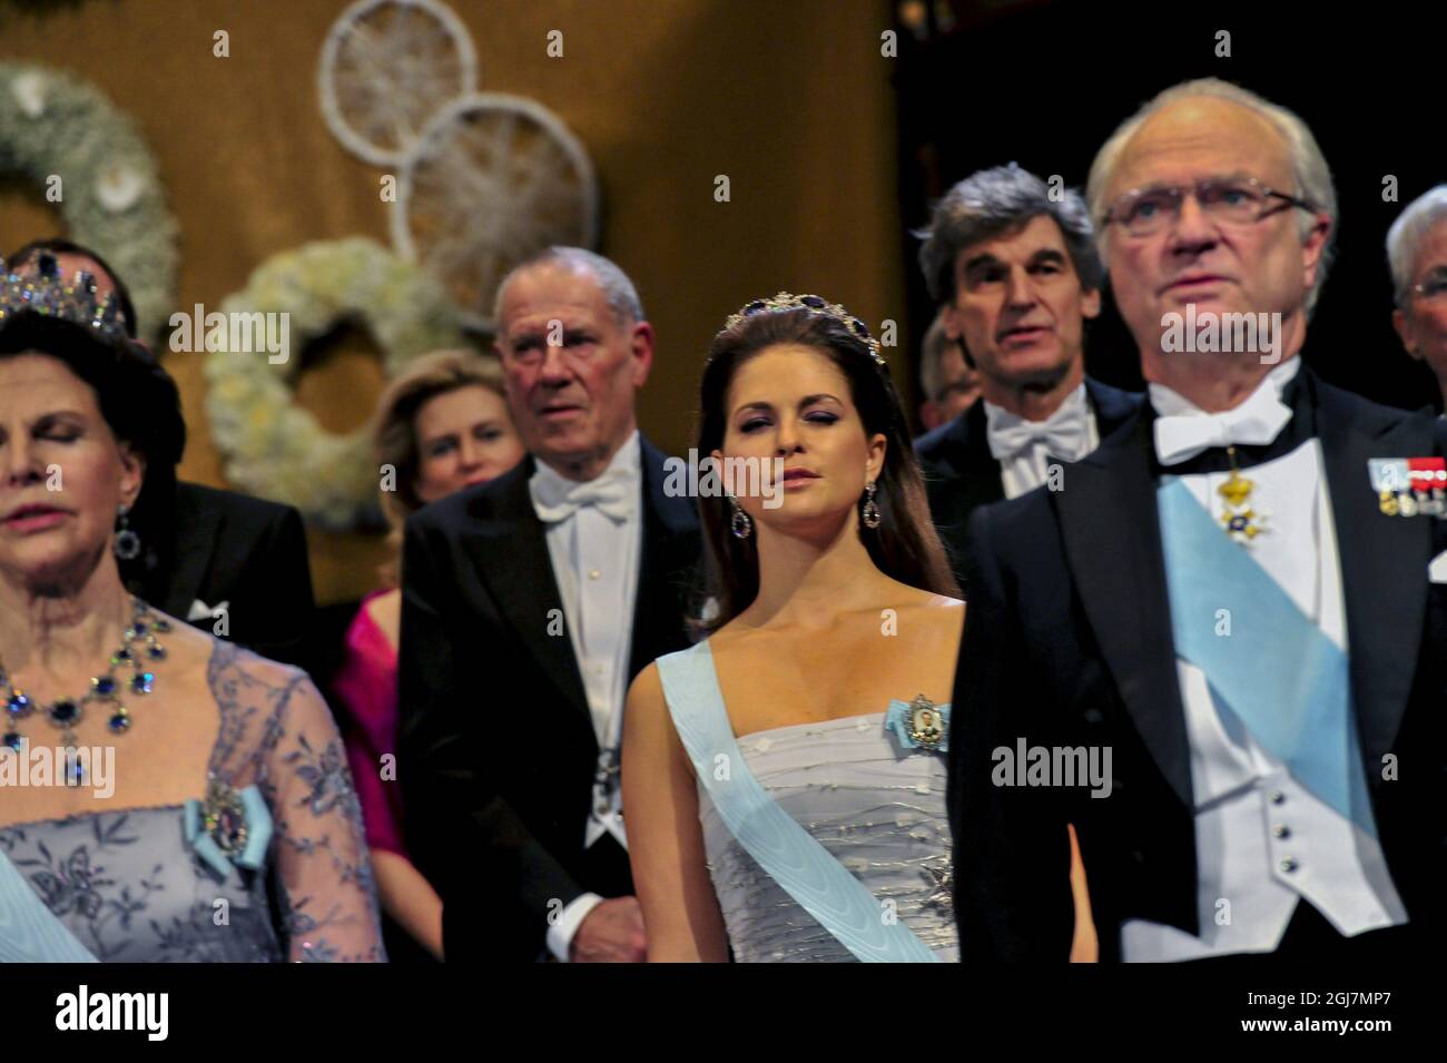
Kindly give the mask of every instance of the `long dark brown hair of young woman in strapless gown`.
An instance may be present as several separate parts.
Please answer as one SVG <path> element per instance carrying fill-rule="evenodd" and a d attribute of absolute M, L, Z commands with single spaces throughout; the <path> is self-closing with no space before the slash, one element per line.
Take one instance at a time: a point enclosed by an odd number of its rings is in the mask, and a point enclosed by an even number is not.
<path fill-rule="evenodd" d="M 760 351 L 778 344 L 812 347 L 839 367 L 849 382 L 849 398 L 860 411 L 865 435 L 884 435 L 884 467 L 874 498 L 880 526 L 860 522 L 860 538 L 870 558 L 886 576 L 936 594 L 959 596 L 945 560 L 945 548 L 929 516 L 925 482 L 910 447 L 899 393 L 858 336 L 838 318 L 809 309 L 767 309 L 725 328 L 709 349 L 700 386 L 697 453 L 724 448 L 728 427 L 728 389 L 738 370 Z M 699 615 L 693 626 L 713 632 L 738 616 L 758 596 L 758 547 L 754 537 L 739 539 L 731 529 L 732 511 L 725 498 L 699 498 L 703 525 L 703 599 L 718 612 Z"/>

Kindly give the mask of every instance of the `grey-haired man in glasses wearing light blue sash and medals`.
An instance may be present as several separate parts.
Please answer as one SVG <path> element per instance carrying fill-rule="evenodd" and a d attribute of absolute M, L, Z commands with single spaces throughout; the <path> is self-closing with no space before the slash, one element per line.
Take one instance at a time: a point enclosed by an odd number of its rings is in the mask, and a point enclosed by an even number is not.
<path fill-rule="evenodd" d="M 1441 947 L 1447 521 L 1379 490 L 1447 425 L 1301 363 L 1336 226 L 1291 111 L 1208 78 L 1107 140 L 1087 195 L 1149 402 L 1064 490 L 977 511 L 951 736 L 964 959 L 1072 931 L 1103 959 L 1396 959 Z M 1269 314 L 1282 357 L 1169 347 Z M 1279 317 L 1278 317 L 1279 315 Z M 1110 793 L 1000 751 L 1108 751 Z"/>

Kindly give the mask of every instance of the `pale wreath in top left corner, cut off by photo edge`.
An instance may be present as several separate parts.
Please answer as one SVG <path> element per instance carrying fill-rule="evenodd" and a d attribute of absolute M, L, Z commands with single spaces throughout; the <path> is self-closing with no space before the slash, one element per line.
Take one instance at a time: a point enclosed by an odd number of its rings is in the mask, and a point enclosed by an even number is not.
<path fill-rule="evenodd" d="M 0 172 L 59 176 L 69 239 L 110 263 L 137 333 L 155 336 L 175 304 L 178 226 L 136 123 L 64 71 L 0 61 Z"/>

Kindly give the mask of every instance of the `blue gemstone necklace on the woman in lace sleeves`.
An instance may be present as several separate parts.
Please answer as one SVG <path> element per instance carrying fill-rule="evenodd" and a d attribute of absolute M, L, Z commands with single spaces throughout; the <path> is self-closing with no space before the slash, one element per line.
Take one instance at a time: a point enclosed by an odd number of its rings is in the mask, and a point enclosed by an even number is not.
<path fill-rule="evenodd" d="M 75 745 L 75 725 L 85 717 L 87 706 L 103 706 L 110 713 L 107 726 L 114 735 L 124 735 L 130 730 L 130 712 L 122 703 L 122 696 L 149 694 L 155 684 L 155 674 L 149 671 L 156 661 L 166 659 L 166 648 L 161 645 L 156 635 L 171 631 L 171 622 L 156 616 L 150 606 L 139 597 L 130 599 L 130 623 L 126 625 L 126 641 L 120 649 L 110 655 L 110 667 L 104 675 L 91 677 L 90 690 L 81 697 L 61 697 L 48 706 L 36 706 L 35 701 L 10 680 L 3 662 L 0 662 L 0 706 L 4 709 L 4 733 L 0 735 L 0 746 L 9 746 L 16 752 L 25 736 L 20 733 L 20 722 L 39 713 L 51 722 L 51 726 L 61 730 L 61 740 L 67 746 Z M 124 678 L 117 675 L 127 670 Z"/>

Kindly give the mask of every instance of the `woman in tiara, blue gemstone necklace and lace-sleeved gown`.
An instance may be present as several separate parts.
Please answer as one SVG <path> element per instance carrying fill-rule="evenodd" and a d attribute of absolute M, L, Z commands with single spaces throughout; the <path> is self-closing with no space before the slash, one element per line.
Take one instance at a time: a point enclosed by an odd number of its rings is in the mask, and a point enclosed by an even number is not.
<path fill-rule="evenodd" d="M 0 270 L 0 960 L 382 960 L 315 687 L 122 584 L 184 424 L 96 291 Z"/>

